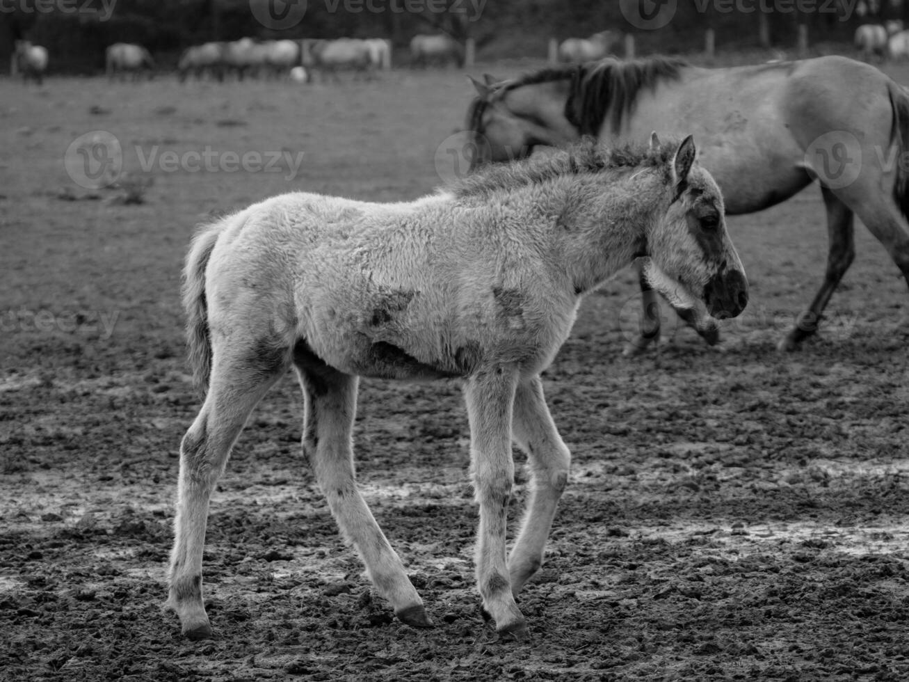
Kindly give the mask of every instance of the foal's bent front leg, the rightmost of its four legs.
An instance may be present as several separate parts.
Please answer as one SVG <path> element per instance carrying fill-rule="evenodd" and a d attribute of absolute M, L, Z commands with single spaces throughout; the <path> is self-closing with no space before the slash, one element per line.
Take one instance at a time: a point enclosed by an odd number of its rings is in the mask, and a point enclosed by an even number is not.
<path fill-rule="evenodd" d="M 530 497 L 521 533 L 508 558 L 512 594 L 543 565 L 543 553 L 553 525 L 555 506 L 568 482 L 571 454 L 555 429 L 539 376 L 518 384 L 514 393 L 514 441 L 527 453 Z"/>

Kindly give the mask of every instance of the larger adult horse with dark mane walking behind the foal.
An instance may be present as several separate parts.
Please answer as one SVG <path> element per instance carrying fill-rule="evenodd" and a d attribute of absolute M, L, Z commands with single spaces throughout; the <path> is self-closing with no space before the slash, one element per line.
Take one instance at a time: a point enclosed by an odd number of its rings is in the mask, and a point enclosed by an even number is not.
<path fill-rule="evenodd" d="M 474 85 L 472 167 L 581 135 L 615 143 L 655 129 L 694 134 L 730 214 L 774 206 L 819 179 L 830 238 L 826 275 L 782 350 L 817 330 L 854 258 L 854 215 L 909 278 L 909 96 L 874 66 L 841 56 L 718 69 L 606 59 Z M 626 353 L 659 335 L 658 305 L 646 289 L 644 310 L 642 335 Z M 715 342 L 716 330 L 705 337 Z"/>

